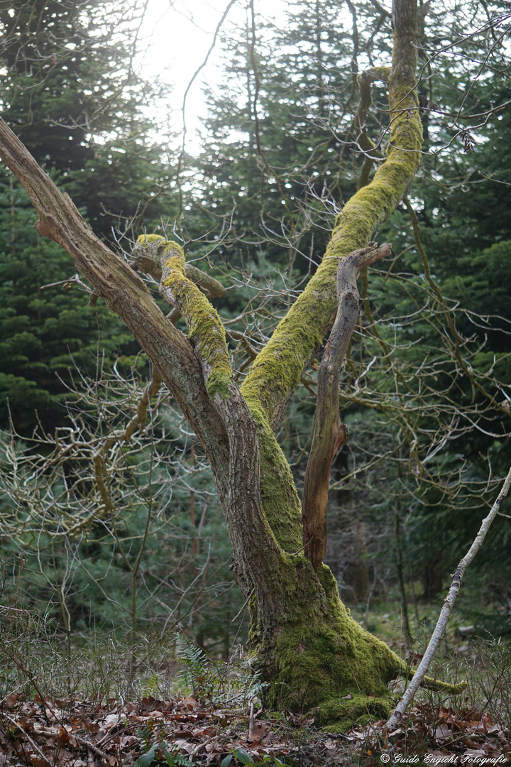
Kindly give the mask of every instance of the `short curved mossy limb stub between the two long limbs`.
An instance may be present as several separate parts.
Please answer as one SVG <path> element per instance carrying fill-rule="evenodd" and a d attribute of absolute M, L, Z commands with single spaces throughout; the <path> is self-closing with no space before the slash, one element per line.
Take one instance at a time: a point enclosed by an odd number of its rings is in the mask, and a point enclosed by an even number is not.
<path fill-rule="evenodd" d="M 157 246 L 162 264 L 160 292 L 165 301 L 179 309 L 185 318 L 189 335 L 195 343 L 195 354 L 205 374 L 209 396 L 218 394 L 222 400 L 227 400 L 231 396 L 232 369 L 224 326 L 208 298 L 187 277 L 185 253 L 181 245 L 165 240 L 161 235 L 141 235 L 137 245 Z"/>

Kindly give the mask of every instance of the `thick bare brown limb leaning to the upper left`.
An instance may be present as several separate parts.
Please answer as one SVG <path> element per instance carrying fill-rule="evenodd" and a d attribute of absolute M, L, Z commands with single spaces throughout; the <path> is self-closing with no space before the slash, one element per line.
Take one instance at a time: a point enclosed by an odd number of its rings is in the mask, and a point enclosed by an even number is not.
<path fill-rule="evenodd" d="M 167 318 L 133 269 L 106 248 L 0 118 L 0 156 L 25 186 L 38 212 L 36 229 L 73 256 L 77 269 L 110 309 L 126 323 L 159 368 L 183 413 L 198 434 L 215 472 L 221 495 L 227 492 L 228 445 L 223 423 L 205 389 L 192 347 Z M 126 296 L 129 295 L 129 301 Z"/>

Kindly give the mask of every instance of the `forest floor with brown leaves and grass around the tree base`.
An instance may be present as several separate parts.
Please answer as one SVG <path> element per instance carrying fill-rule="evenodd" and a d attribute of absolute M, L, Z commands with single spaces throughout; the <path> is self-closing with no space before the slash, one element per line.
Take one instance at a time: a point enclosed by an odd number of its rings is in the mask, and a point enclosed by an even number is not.
<path fill-rule="evenodd" d="M 362 607 L 352 612 L 368 624 Z M 415 609 L 413 650 L 403 640 L 395 603 L 372 604 L 367 627 L 413 667 L 437 614 L 434 602 Z M 0 767 L 511 764 L 511 643 L 456 637 L 462 620 L 457 617 L 450 627 L 430 674 L 466 680 L 464 693 L 421 691 L 394 732 L 384 721 L 359 722 L 342 735 L 318 729 L 312 716 L 270 714 L 259 707 L 257 676 L 241 653 L 214 661 L 181 638 L 178 660 L 163 667 L 153 658 L 137 685 L 133 666 L 126 677 L 126 656 L 111 652 L 111 640 L 110 654 L 103 651 L 92 660 L 81 651 L 66 657 L 55 648 L 51 657 L 38 656 L 42 645 L 24 644 L 25 631 L 0 647 L 7 653 L 0 666 L 10 658 L 18 675 L 14 684 L 15 676 L 0 668 L 0 680 L 10 679 L 10 686 L 0 688 Z M 99 680 L 97 686 L 84 683 L 86 673 Z M 123 673 L 120 686 L 116 679 Z M 397 697 L 403 686 L 397 683 Z"/>

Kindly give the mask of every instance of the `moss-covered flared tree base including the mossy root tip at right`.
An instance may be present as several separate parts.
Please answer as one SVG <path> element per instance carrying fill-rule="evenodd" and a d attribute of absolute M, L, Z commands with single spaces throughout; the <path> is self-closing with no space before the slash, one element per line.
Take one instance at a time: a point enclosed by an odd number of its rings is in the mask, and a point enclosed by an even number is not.
<path fill-rule="evenodd" d="M 270 682 L 264 703 L 270 709 L 312 713 L 316 725 L 337 732 L 361 718 L 388 716 L 389 683 L 413 672 L 352 618 L 330 569 L 321 565 L 316 573 L 305 557 L 287 558 L 283 602 L 287 611 L 276 615 L 272 625 L 264 625 L 257 604 L 251 603 L 251 647 Z M 424 686 L 450 694 L 464 690 L 464 683 L 428 678 Z"/>

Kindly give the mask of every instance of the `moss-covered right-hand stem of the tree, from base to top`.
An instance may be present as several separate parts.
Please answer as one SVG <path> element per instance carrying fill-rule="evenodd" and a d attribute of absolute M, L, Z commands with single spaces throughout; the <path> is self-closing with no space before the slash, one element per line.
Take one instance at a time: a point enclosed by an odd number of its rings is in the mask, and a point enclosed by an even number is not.
<path fill-rule="evenodd" d="M 283 611 L 269 611 L 260 598 L 252 605 L 251 641 L 273 682 L 269 703 L 314 709 L 316 722 L 352 721 L 388 709 L 388 682 L 397 676 L 395 653 L 357 624 L 342 604 L 325 565 L 315 571 L 303 554 L 300 502 L 273 431 L 308 360 L 319 348 L 336 314 L 339 258 L 369 244 L 375 228 L 390 216 L 418 169 L 421 120 L 415 91 L 417 5 L 394 2 L 391 70 L 369 79 L 388 80 L 390 133 L 387 159 L 339 213 L 323 262 L 280 322 L 241 387 L 257 420 L 264 511 L 287 552 L 280 576 Z M 263 544 L 264 545 L 264 544 Z M 293 553 L 295 552 L 295 553 Z M 280 566 L 281 568 L 282 566 Z M 348 697 L 346 697 L 348 696 Z M 349 696 L 352 696 L 350 698 Z"/>

